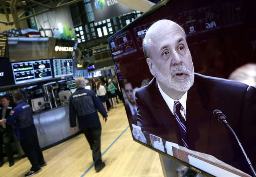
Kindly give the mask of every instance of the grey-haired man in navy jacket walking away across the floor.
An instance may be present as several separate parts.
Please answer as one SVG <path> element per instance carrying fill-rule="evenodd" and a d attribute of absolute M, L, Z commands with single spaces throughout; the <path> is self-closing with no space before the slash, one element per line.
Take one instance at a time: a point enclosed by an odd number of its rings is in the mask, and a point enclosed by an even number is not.
<path fill-rule="evenodd" d="M 75 79 L 76 91 L 69 97 L 69 120 L 72 131 L 76 133 L 76 115 L 79 128 L 82 129 L 90 147 L 93 151 L 93 162 L 95 170 L 99 172 L 105 167 L 101 159 L 100 135 L 101 124 L 97 109 L 103 116 L 103 120 L 108 120 L 108 114 L 102 104 L 102 101 L 93 90 L 85 89 L 85 79 L 77 77 Z"/>

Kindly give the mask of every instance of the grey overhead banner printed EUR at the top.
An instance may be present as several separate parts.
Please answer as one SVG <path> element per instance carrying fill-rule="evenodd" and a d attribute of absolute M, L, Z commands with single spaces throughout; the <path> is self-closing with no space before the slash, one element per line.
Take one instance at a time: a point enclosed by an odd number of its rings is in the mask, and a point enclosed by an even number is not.
<path fill-rule="evenodd" d="M 116 0 L 91 0 L 95 22 L 117 17 L 135 10 L 130 9 Z"/>

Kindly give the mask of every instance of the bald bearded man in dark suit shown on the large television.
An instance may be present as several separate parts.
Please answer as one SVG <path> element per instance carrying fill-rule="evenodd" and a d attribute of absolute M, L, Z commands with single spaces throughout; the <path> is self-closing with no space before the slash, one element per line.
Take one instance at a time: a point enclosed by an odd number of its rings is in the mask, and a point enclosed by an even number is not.
<path fill-rule="evenodd" d="M 154 146 L 152 139 L 160 137 L 165 148 L 166 142 L 173 142 L 250 173 L 235 137 L 213 111 L 219 109 L 226 115 L 254 165 L 256 89 L 194 73 L 186 34 L 173 21 L 154 23 L 143 41 L 143 51 L 155 76 L 135 94 L 137 125 L 147 144 Z"/>

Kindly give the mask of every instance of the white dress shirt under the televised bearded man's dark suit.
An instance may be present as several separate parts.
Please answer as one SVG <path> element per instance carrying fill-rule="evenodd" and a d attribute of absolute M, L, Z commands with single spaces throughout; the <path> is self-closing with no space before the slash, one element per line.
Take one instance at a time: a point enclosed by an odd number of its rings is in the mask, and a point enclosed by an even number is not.
<path fill-rule="evenodd" d="M 165 100 L 166 104 L 168 105 L 169 109 L 175 114 L 175 106 L 174 106 L 174 101 L 180 101 L 180 104 L 182 105 L 180 109 L 180 113 L 182 114 L 183 118 L 186 120 L 186 102 L 187 102 L 187 91 L 185 94 L 180 98 L 180 100 L 173 100 L 173 98 L 169 97 L 163 90 L 161 89 L 159 83 L 158 84 L 158 89 L 160 90 L 161 95 L 163 96 L 163 99 Z M 187 121 L 187 120 L 186 120 Z"/>

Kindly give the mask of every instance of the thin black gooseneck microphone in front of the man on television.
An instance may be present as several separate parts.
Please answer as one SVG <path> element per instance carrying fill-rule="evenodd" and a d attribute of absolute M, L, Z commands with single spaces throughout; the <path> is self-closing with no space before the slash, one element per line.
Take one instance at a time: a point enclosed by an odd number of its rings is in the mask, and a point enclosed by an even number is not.
<path fill-rule="evenodd" d="M 246 153 L 245 153 L 245 150 L 243 149 L 242 144 L 240 143 L 239 139 L 237 138 L 236 133 L 235 133 L 235 132 L 233 131 L 233 129 L 228 125 L 228 122 L 226 121 L 226 116 L 225 116 L 219 109 L 215 109 L 215 110 L 213 111 L 213 114 L 214 114 L 215 118 L 217 118 L 217 119 L 218 119 L 220 122 L 222 122 L 223 124 L 227 125 L 228 128 L 232 131 L 232 133 L 233 133 L 234 136 L 236 137 L 236 140 L 237 140 L 237 142 L 238 142 L 240 148 L 241 148 L 242 151 L 243 151 L 243 155 L 245 156 L 245 158 L 246 158 L 246 160 L 247 160 L 247 163 L 248 163 L 248 165 L 249 165 L 250 170 L 252 171 L 253 176 L 256 177 L 256 172 L 255 172 L 255 170 L 254 170 L 254 168 L 253 168 L 253 166 L 252 166 L 252 164 L 251 164 L 249 158 L 247 157 L 247 155 L 246 155 Z"/>

